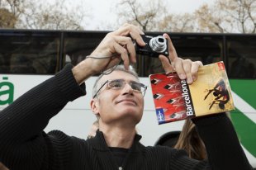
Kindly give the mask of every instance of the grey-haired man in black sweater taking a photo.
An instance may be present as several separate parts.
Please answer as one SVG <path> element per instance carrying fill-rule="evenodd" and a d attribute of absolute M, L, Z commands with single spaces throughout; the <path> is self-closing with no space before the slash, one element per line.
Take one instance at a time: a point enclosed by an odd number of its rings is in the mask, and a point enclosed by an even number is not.
<path fill-rule="evenodd" d="M 250 169 L 235 130 L 225 114 L 203 117 L 194 122 L 206 144 L 209 162 L 187 157 L 183 150 L 145 147 L 135 125 L 144 107 L 144 88 L 129 71 L 135 62 L 134 39 L 145 45 L 144 34 L 136 26 L 124 25 L 102 40 L 87 59 L 73 67 L 67 65 L 55 77 L 26 92 L 0 114 L 0 161 L 12 170 L 25 169 Z M 178 58 L 169 41 L 169 59 L 160 55 L 166 72 L 175 69 L 182 79 L 197 79 L 201 62 Z M 130 38 L 131 37 L 131 38 Z M 104 73 L 96 83 L 91 102 L 99 120 L 97 135 L 88 140 L 65 135 L 59 130 L 45 134 L 50 118 L 67 102 L 84 95 L 84 81 L 95 73 Z"/>

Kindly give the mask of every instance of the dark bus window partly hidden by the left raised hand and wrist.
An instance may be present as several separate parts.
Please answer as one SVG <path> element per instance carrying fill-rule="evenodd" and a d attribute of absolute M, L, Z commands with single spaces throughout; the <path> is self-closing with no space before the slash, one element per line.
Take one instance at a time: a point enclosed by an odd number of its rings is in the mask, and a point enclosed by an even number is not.
<path fill-rule="evenodd" d="M 64 64 L 78 64 L 92 53 L 106 34 L 101 31 L 64 32 Z"/>

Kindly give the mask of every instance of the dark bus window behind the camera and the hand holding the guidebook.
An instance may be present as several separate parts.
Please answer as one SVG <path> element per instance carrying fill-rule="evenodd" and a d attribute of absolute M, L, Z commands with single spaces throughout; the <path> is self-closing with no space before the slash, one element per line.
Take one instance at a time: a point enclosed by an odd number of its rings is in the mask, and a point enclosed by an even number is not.
<path fill-rule="evenodd" d="M 150 33 L 149 33 L 150 34 Z M 151 33 L 152 34 L 152 33 Z M 153 35 L 154 36 L 154 35 Z M 178 56 L 192 61 L 200 60 L 203 64 L 211 64 L 223 60 L 223 36 L 203 34 L 170 34 Z M 164 72 L 158 58 L 137 56 L 136 66 L 140 76 Z"/>

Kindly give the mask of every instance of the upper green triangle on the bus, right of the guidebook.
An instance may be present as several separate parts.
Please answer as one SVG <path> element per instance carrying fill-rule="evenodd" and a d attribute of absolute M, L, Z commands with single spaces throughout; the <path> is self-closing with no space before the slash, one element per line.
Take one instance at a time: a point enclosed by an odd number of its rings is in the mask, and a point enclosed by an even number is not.
<path fill-rule="evenodd" d="M 239 97 L 256 109 L 256 80 L 230 79 L 230 87 Z"/>

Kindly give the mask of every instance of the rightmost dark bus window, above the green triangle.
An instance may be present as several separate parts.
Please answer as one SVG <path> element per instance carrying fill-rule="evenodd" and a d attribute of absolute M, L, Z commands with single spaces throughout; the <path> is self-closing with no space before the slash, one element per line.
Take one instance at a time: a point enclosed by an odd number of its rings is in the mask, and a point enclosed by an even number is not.
<path fill-rule="evenodd" d="M 256 78 L 256 37 L 227 36 L 227 56 L 230 78 Z"/>

